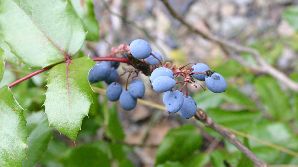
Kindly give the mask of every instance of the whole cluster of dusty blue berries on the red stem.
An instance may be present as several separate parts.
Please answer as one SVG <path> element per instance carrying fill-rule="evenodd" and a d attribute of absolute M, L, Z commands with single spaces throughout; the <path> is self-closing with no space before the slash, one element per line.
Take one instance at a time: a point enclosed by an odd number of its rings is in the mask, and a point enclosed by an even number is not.
<path fill-rule="evenodd" d="M 121 48 L 124 49 L 121 50 Z M 115 51 L 117 49 L 114 48 L 112 50 Z M 194 85 L 194 83 L 197 83 L 193 78 L 205 81 L 207 88 L 211 92 L 220 93 L 224 92 L 227 88 L 227 83 L 224 77 L 219 73 L 211 71 L 206 64 L 196 63 L 192 68 L 185 68 L 185 66 L 176 67 L 175 65 L 171 66 L 170 62 L 163 65 L 162 56 L 158 52 L 152 52 L 151 46 L 145 40 L 137 39 L 132 41 L 129 45 L 129 50 L 125 49 L 123 45 L 120 47 L 120 52 L 124 53 L 124 58 L 128 58 L 126 54 L 129 54 L 136 59 L 142 59 L 141 63 L 147 62 L 151 65 L 151 69 L 148 69 L 151 71 L 153 70 L 152 73 L 150 72 L 151 75 L 149 80 L 151 82 L 151 87 L 156 92 L 165 92 L 163 102 L 168 113 L 178 112 L 186 119 L 195 115 L 197 111 L 196 101 L 191 96 L 188 96 L 187 92 L 187 84 Z M 115 55 L 115 53 L 116 52 L 111 53 L 111 55 Z M 129 59 L 132 60 L 131 58 Z M 145 85 L 141 80 L 133 79 L 129 84 L 129 88 L 127 88 L 128 83 L 126 83 L 126 88 L 122 90 L 121 85 L 117 83 L 119 75 L 116 69 L 118 66 L 119 62 L 100 62 L 90 70 L 88 79 L 90 83 L 104 80 L 109 84 L 106 89 L 107 99 L 110 101 L 119 100 L 121 107 L 124 110 L 129 111 L 136 106 L 137 99 L 144 95 Z M 134 72 L 138 74 L 139 70 L 135 69 Z M 129 76 L 131 73 L 132 71 L 130 71 Z M 183 81 L 176 82 L 175 79 L 177 77 L 182 77 Z M 178 83 L 184 83 L 184 85 L 180 90 L 173 90 Z M 182 92 L 184 87 L 186 88 L 185 95 L 183 95 Z"/>

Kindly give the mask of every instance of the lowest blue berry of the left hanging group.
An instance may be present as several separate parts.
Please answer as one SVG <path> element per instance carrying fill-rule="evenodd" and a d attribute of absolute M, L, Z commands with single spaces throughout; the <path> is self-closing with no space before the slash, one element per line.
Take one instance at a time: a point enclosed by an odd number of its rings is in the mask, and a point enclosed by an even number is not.
<path fill-rule="evenodd" d="M 120 95 L 119 102 L 121 107 L 126 111 L 132 110 L 137 105 L 137 99 L 131 96 L 129 90 L 125 89 Z"/>

